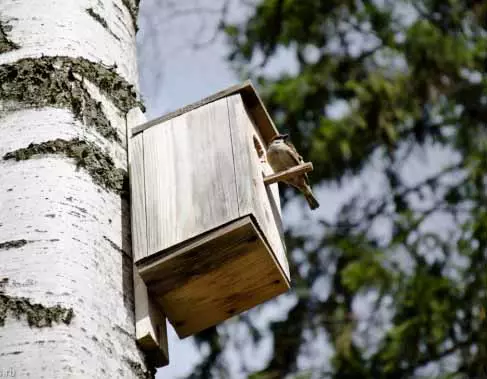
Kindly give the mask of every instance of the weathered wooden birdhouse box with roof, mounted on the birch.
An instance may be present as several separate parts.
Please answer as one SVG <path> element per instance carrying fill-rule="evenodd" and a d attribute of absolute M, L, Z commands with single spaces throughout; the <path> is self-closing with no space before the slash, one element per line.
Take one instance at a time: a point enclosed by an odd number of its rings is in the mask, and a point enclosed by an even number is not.
<path fill-rule="evenodd" d="M 250 82 L 132 128 L 134 261 L 181 338 L 290 287 L 278 185 L 264 183 L 276 134 Z"/>

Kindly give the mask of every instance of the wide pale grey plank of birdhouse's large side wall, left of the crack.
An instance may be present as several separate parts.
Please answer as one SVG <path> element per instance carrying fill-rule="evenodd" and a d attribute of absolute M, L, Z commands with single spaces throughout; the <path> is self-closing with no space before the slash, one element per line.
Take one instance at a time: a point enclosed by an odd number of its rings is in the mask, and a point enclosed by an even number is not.
<path fill-rule="evenodd" d="M 238 218 L 225 99 L 143 135 L 149 254 Z"/>

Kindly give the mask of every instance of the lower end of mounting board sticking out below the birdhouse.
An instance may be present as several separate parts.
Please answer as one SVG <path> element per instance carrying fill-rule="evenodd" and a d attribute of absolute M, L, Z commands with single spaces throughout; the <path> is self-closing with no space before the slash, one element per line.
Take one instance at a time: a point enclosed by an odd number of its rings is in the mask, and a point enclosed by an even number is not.
<path fill-rule="evenodd" d="M 135 338 L 143 351 L 150 353 L 157 367 L 169 363 L 166 317 L 149 298 L 147 287 L 134 267 Z"/>

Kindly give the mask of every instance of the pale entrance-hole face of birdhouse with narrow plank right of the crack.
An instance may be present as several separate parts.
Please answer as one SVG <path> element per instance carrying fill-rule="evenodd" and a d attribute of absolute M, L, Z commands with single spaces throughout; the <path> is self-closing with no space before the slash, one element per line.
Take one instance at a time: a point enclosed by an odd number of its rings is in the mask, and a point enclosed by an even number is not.
<path fill-rule="evenodd" d="M 280 203 L 275 192 L 264 185 L 265 145 L 263 155 L 259 157 L 256 148 L 256 135 L 252 120 L 245 109 L 240 95 L 227 98 L 230 129 L 235 158 L 235 170 L 238 173 L 237 193 L 240 216 L 253 214 L 261 228 L 281 269 L 289 279 L 289 265 L 286 258 L 285 244 L 282 238 Z"/>

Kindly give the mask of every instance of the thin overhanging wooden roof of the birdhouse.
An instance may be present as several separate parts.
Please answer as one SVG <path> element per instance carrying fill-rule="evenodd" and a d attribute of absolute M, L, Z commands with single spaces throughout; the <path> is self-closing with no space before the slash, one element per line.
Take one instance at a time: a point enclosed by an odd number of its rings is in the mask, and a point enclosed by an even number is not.
<path fill-rule="evenodd" d="M 262 137 L 266 144 L 270 143 L 272 138 L 279 134 L 274 123 L 272 122 L 269 113 L 265 109 L 264 103 L 262 99 L 259 97 L 255 87 L 253 86 L 250 80 L 245 81 L 242 84 L 238 84 L 227 89 L 224 89 L 220 92 L 217 92 L 211 96 L 208 96 L 202 100 L 199 100 L 195 103 L 189 104 L 185 107 L 179 108 L 173 112 L 167 113 L 161 117 L 155 118 L 151 121 L 148 121 L 142 125 L 139 125 L 132 129 L 132 137 L 138 133 L 143 132 L 146 129 L 154 125 L 158 125 L 164 121 L 170 120 L 174 117 L 180 116 L 184 113 L 190 112 L 196 108 L 202 107 L 206 104 L 212 103 L 219 99 L 222 99 L 227 96 L 235 95 L 239 93 L 242 96 L 242 100 L 253 118 L 256 126 L 259 128 Z"/>

